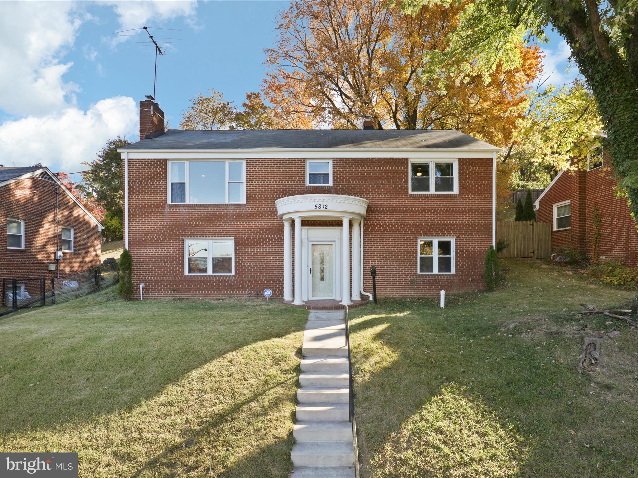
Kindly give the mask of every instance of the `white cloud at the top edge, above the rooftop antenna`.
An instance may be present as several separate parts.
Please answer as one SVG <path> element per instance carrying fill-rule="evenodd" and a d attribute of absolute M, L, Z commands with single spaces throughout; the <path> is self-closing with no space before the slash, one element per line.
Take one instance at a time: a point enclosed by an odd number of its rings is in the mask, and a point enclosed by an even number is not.
<path fill-rule="evenodd" d="M 117 13 L 121 30 L 157 27 L 177 17 L 186 17 L 186 20 L 192 21 L 197 10 L 195 0 L 99 0 L 98 4 L 112 6 Z M 141 34 L 145 34 L 144 31 Z M 116 36 L 114 43 L 122 41 L 126 41 L 126 37 Z"/>

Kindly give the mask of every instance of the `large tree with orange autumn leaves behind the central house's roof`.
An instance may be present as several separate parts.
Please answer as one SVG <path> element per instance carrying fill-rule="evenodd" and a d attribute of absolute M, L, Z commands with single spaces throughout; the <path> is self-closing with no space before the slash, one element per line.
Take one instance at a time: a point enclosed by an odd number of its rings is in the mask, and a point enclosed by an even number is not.
<path fill-rule="evenodd" d="M 498 64 L 489 76 L 459 76 L 452 64 L 424 75 L 428 59 L 449 48 L 463 8 L 423 6 L 406 15 L 385 0 L 292 1 L 266 50 L 265 99 L 315 126 L 357 128 L 371 115 L 380 129 L 454 128 L 506 145 L 540 51 L 521 44 L 520 64 Z"/>

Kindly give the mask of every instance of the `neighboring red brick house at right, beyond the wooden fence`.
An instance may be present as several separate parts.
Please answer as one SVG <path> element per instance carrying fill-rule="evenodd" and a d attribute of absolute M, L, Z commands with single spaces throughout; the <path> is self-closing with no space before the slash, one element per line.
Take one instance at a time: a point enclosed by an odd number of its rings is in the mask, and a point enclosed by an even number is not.
<path fill-rule="evenodd" d="M 605 160 L 607 157 L 605 156 Z M 606 163 L 606 161 L 605 161 Z M 602 156 L 588 170 L 561 171 L 536 201 L 538 221 L 552 224 L 552 249 L 570 245 L 587 256 L 593 252 L 593 210 L 600 213 L 601 259 L 618 259 L 635 266 L 638 231 L 627 198 L 616 194 L 617 182 Z"/>

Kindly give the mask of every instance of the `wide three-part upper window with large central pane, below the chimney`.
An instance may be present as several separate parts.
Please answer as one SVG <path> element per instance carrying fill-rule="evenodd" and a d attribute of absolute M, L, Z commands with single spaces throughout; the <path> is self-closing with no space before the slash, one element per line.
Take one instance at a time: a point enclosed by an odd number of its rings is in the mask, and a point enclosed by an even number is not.
<path fill-rule="evenodd" d="M 169 161 L 168 202 L 218 204 L 246 202 L 246 162 Z"/>

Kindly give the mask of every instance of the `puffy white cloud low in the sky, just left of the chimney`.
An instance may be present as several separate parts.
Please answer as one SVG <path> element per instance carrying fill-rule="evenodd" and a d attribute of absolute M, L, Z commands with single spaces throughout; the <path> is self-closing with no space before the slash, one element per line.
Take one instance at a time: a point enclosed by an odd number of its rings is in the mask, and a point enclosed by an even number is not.
<path fill-rule="evenodd" d="M 66 108 L 41 117 L 6 121 L 0 126 L 0 163 L 28 166 L 56 163 L 61 170 L 81 171 L 107 140 L 118 134 L 137 136 L 137 105 L 115 96 L 98 101 L 87 112 Z"/>

